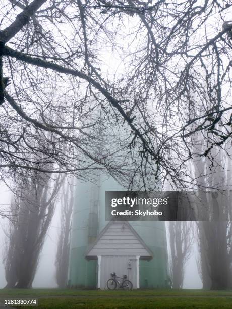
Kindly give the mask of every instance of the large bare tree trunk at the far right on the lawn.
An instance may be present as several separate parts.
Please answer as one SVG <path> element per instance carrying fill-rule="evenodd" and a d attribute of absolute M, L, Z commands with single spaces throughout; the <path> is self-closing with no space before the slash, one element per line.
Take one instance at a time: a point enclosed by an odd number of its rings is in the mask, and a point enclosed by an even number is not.
<path fill-rule="evenodd" d="M 203 147 L 200 139 L 195 140 L 198 147 Z M 231 150 L 229 150 L 231 151 Z M 197 223 L 197 239 L 199 247 L 199 273 L 204 289 L 227 289 L 231 284 L 231 197 L 227 191 L 230 176 L 230 157 L 222 156 L 222 152 L 212 150 L 217 164 L 212 164 L 211 173 L 206 173 L 208 160 L 194 160 L 196 179 L 205 183 L 206 187 L 223 190 L 200 190 L 198 197 L 202 202 L 202 216 L 205 221 Z M 224 154 L 225 155 L 225 154 Z M 212 162 L 211 162 L 212 163 Z"/>

